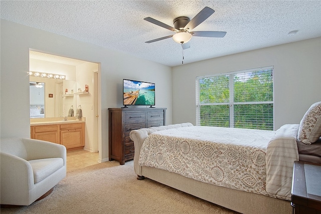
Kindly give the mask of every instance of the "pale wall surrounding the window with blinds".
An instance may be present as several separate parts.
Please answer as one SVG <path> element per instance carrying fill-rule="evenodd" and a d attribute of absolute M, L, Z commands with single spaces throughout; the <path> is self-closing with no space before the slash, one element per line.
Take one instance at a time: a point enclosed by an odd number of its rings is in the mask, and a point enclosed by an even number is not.
<path fill-rule="evenodd" d="M 196 123 L 197 76 L 274 66 L 274 129 L 299 123 L 321 100 L 321 38 L 210 59 L 173 68 L 173 123 Z"/>

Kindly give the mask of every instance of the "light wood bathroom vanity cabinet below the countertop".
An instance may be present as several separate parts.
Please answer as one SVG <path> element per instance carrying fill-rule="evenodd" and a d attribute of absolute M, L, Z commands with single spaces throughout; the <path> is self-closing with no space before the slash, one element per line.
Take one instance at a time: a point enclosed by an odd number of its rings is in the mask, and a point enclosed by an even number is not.
<path fill-rule="evenodd" d="M 31 125 L 31 138 L 66 146 L 67 152 L 85 146 L 85 123 Z"/>

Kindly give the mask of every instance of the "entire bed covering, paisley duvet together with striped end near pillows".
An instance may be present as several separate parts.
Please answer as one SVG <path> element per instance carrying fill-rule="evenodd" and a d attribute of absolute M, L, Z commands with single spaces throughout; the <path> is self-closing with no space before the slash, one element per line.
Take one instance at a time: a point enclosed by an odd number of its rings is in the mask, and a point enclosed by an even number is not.
<path fill-rule="evenodd" d="M 284 125 L 266 131 L 192 126 L 157 131 L 142 144 L 139 165 L 290 199 L 293 161 L 298 160 L 297 128 Z"/>

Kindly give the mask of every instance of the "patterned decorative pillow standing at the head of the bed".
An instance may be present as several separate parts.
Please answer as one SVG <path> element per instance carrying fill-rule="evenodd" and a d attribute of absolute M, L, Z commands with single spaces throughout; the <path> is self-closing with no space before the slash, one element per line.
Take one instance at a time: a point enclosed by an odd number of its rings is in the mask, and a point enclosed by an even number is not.
<path fill-rule="evenodd" d="M 311 105 L 299 126 L 297 139 L 305 144 L 314 143 L 321 136 L 321 102 Z"/>

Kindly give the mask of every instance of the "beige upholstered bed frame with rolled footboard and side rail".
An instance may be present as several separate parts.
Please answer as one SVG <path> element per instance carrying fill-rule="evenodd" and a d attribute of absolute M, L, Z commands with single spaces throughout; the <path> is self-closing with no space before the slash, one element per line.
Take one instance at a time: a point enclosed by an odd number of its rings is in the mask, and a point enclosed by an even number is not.
<path fill-rule="evenodd" d="M 149 134 L 159 130 L 186 126 L 193 126 L 193 124 L 181 123 L 168 126 L 143 128 L 130 132 L 130 138 L 134 141 L 135 146 L 134 169 L 137 174 L 137 179 L 141 180 L 144 179 L 144 177 L 147 177 L 159 183 L 163 183 L 175 189 L 187 192 L 196 197 L 241 213 L 292 213 L 292 207 L 289 200 L 282 200 L 265 195 L 216 186 L 214 184 L 197 181 L 163 169 L 139 166 L 138 159 L 140 148 Z"/>

